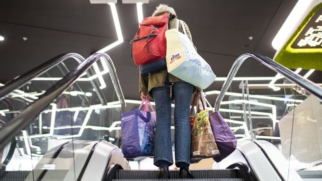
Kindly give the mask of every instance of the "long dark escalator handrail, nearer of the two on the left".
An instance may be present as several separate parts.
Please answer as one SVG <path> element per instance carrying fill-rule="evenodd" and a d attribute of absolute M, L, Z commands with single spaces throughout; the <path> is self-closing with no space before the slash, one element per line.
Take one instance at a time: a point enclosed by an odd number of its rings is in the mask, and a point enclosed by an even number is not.
<path fill-rule="evenodd" d="M 94 53 L 51 86 L 33 104 L 29 105 L 24 111 L 10 120 L 0 131 L 0 150 L 6 146 L 13 136 L 25 129 L 42 110 L 61 95 L 63 91 L 71 86 L 78 77 L 87 71 L 92 64 L 101 57 L 109 56 L 106 53 Z"/>

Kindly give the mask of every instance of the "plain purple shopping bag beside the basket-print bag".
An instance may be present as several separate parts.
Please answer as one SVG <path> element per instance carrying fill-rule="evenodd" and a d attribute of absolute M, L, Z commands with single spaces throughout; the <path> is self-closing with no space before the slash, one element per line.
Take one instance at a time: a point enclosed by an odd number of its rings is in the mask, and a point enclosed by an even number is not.
<path fill-rule="evenodd" d="M 204 99 L 207 102 L 208 106 L 212 108 L 210 103 L 206 100 L 206 98 Z M 209 114 L 209 121 L 211 129 L 216 139 L 218 149 L 220 151 L 220 155 L 213 157 L 213 159 L 216 162 L 219 162 L 228 155 L 230 155 L 236 149 L 237 138 L 231 131 L 227 122 L 220 115 L 220 112 L 215 111 L 215 109 L 213 108 L 212 110 L 213 112 Z"/>

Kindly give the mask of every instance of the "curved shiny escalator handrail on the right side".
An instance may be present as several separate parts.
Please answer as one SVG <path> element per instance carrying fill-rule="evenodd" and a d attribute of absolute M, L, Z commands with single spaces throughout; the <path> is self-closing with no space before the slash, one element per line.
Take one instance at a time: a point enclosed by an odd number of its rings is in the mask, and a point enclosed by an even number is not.
<path fill-rule="evenodd" d="M 248 59 L 250 57 L 254 58 L 255 60 L 258 60 L 260 63 L 264 64 L 265 66 L 272 69 L 273 71 L 280 73 L 281 75 L 283 75 L 287 79 L 293 81 L 295 84 L 298 84 L 301 87 L 305 88 L 306 91 L 308 91 L 310 94 L 312 94 L 322 100 L 322 88 L 315 85 L 314 82 L 302 77 L 299 74 L 294 73 L 290 69 L 284 67 L 283 65 L 277 63 L 276 61 L 274 61 L 266 56 L 263 56 L 258 53 L 245 53 L 243 55 L 240 55 L 236 59 L 236 61 L 233 63 L 233 65 L 231 66 L 229 73 L 227 75 L 227 79 L 223 83 L 221 91 L 216 99 L 216 102 L 214 105 L 215 111 L 219 111 L 220 103 L 221 103 L 224 95 L 226 94 L 226 92 L 231 84 L 231 81 L 234 78 L 234 76 L 236 75 L 240 65 L 246 59 Z"/>

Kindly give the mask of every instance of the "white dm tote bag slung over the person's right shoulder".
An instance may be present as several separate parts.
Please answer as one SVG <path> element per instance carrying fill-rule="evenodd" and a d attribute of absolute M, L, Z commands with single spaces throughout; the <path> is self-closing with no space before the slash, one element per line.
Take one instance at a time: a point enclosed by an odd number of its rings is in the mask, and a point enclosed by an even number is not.
<path fill-rule="evenodd" d="M 179 32 L 179 22 L 184 33 Z M 205 89 L 215 81 L 216 75 L 209 64 L 197 53 L 186 34 L 184 24 L 166 31 L 168 72 L 199 88 Z"/>

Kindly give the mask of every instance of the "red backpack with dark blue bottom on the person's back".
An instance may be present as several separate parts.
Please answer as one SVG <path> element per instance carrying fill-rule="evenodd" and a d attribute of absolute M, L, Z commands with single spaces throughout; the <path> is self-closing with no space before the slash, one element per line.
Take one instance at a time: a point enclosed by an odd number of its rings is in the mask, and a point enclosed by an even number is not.
<path fill-rule="evenodd" d="M 131 56 L 141 73 L 154 73 L 167 68 L 166 31 L 171 14 L 146 17 L 131 40 Z"/>

